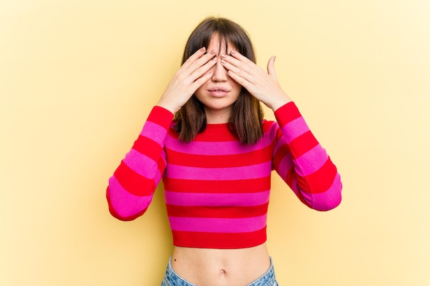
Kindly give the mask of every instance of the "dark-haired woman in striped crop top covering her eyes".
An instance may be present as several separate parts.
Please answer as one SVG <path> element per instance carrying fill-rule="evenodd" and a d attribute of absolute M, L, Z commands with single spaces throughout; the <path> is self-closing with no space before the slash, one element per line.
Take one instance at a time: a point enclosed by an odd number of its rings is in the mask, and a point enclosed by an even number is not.
<path fill-rule="evenodd" d="M 275 75 L 256 64 L 247 33 L 209 18 L 109 180 L 114 217 L 145 213 L 160 180 L 174 251 L 163 286 L 273 286 L 266 247 L 275 170 L 310 208 L 341 202 L 341 180 Z M 275 112 L 262 118 L 260 102 Z"/>

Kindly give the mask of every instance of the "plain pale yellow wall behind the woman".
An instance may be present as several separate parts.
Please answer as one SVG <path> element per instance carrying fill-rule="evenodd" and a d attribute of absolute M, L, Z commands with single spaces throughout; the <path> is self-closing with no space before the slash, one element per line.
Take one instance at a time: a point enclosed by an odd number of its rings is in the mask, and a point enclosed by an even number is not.
<path fill-rule="evenodd" d="M 0 285 L 159 285 L 161 189 L 127 223 L 104 191 L 210 15 L 277 56 L 343 179 L 318 213 L 273 176 L 280 285 L 430 285 L 428 0 L 1 1 Z"/>

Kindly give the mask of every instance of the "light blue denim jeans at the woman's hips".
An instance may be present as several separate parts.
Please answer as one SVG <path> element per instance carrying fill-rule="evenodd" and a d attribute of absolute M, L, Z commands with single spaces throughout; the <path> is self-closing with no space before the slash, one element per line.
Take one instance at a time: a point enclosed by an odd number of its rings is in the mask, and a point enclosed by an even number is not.
<path fill-rule="evenodd" d="M 196 286 L 174 272 L 172 267 L 172 257 L 170 257 L 169 264 L 166 269 L 166 276 L 164 276 L 161 286 Z M 247 286 L 279 286 L 275 278 L 275 269 L 273 268 L 272 259 L 270 259 L 270 267 L 266 273 L 260 278 Z"/>

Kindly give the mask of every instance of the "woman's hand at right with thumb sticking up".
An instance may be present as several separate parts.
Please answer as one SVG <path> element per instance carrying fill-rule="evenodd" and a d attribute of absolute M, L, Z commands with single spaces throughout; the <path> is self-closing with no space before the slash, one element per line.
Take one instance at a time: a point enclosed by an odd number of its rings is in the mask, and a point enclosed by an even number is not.
<path fill-rule="evenodd" d="M 233 80 L 273 111 L 291 102 L 276 77 L 274 56 L 267 63 L 267 73 L 251 60 L 233 50 L 231 50 L 231 56 L 221 55 L 221 63 Z"/>

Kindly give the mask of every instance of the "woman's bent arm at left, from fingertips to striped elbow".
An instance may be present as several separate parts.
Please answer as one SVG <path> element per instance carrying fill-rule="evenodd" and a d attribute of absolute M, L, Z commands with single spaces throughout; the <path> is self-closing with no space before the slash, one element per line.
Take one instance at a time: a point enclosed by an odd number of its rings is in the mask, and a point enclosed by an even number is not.
<path fill-rule="evenodd" d="M 196 51 L 174 74 L 139 138 L 109 179 L 106 197 L 109 211 L 117 219 L 135 219 L 148 208 L 166 168 L 163 146 L 174 112 L 212 75 L 215 52 L 205 51 L 205 47 Z"/>

